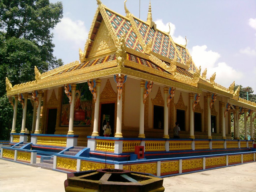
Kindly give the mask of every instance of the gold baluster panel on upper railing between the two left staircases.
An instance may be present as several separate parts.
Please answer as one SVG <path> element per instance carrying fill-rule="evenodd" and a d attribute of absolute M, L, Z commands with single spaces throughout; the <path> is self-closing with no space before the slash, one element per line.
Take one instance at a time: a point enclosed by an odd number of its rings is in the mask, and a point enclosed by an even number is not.
<path fill-rule="evenodd" d="M 66 147 L 67 146 L 67 138 L 37 136 L 37 145 L 50 145 L 50 146 Z"/>

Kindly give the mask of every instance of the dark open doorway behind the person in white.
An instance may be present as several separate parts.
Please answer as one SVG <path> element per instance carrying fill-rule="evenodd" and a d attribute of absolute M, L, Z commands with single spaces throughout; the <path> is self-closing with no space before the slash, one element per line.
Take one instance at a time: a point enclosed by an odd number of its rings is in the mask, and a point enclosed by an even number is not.
<path fill-rule="evenodd" d="M 105 120 L 105 121 L 104 121 Z M 110 137 L 114 136 L 114 121 L 115 120 L 115 103 L 104 103 L 101 104 L 101 121 L 99 128 L 99 136 L 104 136 L 103 126 L 109 121 L 109 125 L 111 128 Z"/>

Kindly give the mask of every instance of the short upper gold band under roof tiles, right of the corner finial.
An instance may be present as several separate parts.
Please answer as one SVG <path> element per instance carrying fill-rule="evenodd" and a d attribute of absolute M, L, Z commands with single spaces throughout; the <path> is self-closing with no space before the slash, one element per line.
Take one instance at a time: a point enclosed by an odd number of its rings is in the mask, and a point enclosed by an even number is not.
<path fill-rule="evenodd" d="M 161 76 L 163 78 L 174 80 L 174 76 L 171 75 L 171 74 L 168 74 L 168 73 L 163 72 L 163 71 L 159 71 L 159 70 L 154 69 L 154 68 L 146 67 L 146 66 L 144 66 L 142 64 L 139 64 L 139 63 L 136 63 L 134 61 L 125 60 L 125 67 L 132 67 L 132 68 L 135 68 L 135 69 L 139 69 L 141 71 L 149 72 L 150 74 L 154 74 L 154 75 L 157 75 L 157 76 Z"/>

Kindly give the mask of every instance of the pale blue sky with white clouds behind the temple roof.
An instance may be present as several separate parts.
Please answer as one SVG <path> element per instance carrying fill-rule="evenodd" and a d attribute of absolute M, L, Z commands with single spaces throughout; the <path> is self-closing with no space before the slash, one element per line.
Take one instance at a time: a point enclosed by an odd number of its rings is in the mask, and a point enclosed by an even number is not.
<path fill-rule="evenodd" d="M 125 15 L 124 0 L 101 1 Z M 67 64 L 79 60 L 78 50 L 84 48 L 98 5 L 96 0 L 62 2 L 63 18 L 52 33 L 54 56 Z M 126 6 L 146 21 L 148 4 L 149 0 L 127 0 Z M 185 45 L 187 37 L 187 48 L 201 74 L 207 68 L 208 79 L 216 72 L 216 83 L 229 87 L 235 81 L 256 94 L 255 0 L 151 0 L 151 7 L 159 30 L 169 31 L 170 23 L 174 42 Z"/>

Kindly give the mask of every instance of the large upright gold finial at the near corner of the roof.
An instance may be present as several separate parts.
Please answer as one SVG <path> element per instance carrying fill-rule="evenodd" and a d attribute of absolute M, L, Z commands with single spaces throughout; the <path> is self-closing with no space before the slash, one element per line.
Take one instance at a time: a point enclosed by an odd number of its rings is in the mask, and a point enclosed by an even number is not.
<path fill-rule="evenodd" d="M 119 39 L 117 37 L 117 50 L 116 50 L 116 60 L 117 65 L 124 67 L 124 60 L 126 58 L 126 50 L 125 50 L 125 33 Z"/>

